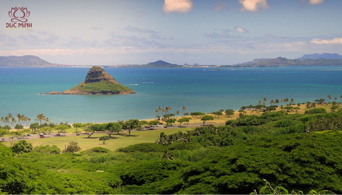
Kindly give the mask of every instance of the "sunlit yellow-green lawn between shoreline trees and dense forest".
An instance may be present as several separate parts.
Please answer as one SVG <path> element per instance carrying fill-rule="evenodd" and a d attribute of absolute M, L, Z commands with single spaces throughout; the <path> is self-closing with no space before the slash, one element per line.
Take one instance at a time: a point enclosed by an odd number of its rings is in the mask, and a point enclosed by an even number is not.
<path fill-rule="evenodd" d="M 128 133 L 124 131 L 124 132 L 121 132 L 120 135 L 114 134 L 114 136 L 112 136 L 112 139 L 106 141 L 106 144 L 103 144 L 103 142 L 99 140 L 99 137 L 107 135 L 107 134 L 94 134 L 90 138 L 87 138 L 86 135 L 81 135 L 81 136 L 40 138 L 40 139 L 32 139 L 28 141 L 32 143 L 33 147 L 41 146 L 41 145 L 56 145 L 61 150 L 64 150 L 65 145 L 67 145 L 71 141 L 75 141 L 75 142 L 78 142 L 78 145 L 81 147 L 82 151 L 93 148 L 93 147 L 99 147 L 99 146 L 107 148 L 111 151 L 115 151 L 117 148 L 126 147 L 132 144 L 154 142 L 155 140 L 158 139 L 158 136 L 160 135 L 161 132 L 164 132 L 166 135 L 170 135 L 178 131 L 185 132 L 191 129 L 192 128 L 168 128 L 168 129 L 161 129 L 161 130 L 132 131 L 130 137 L 128 137 Z M 67 132 L 74 132 L 74 131 L 75 131 L 74 129 L 71 129 L 71 131 L 67 131 Z M 9 146 L 9 142 L 7 142 L 6 145 Z"/>

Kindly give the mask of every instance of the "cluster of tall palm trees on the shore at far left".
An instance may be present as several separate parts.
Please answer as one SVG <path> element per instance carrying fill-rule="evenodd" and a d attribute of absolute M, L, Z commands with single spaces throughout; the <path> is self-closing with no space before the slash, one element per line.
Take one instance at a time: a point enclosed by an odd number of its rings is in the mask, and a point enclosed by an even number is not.
<path fill-rule="evenodd" d="M 37 115 L 36 121 L 40 122 L 40 125 L 42 125 L 42 121 L 49 123 L 50 119 L 45 117 L 43 114 Z M 14 128 L 15 124 L 19 124 L 22 126 L 28 127 L 31 122 L 31 118 L 26 117 L 25 115 L 18 114 L 17 117 L 14 117 L 11 113 L 9 113 L 6 117 L 1 117 L 1 126 L 4 123 L 5 125 L 12 126 L 12 129 Z M 26 125 L 24 125 L 26 123 Z"/>

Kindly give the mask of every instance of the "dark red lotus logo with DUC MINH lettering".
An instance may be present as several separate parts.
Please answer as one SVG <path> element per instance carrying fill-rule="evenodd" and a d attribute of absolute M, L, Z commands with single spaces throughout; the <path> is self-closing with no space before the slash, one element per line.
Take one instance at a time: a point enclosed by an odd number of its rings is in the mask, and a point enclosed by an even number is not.
<path fill-rule="evenodd" d="M 11 17 L 11 22 L 13 23 L 6 23 L 7 30 L 10 29 L 17 29 L 22 28 L 25 30 L 32 28 L 32 23 L 26 23 L 27 18 L 30 16 L 30 12 L 27 11 L 27 8 L 25 7 L 15 7 L 11 9 L 11 11 L 8 12 L 8 16 Z"/>

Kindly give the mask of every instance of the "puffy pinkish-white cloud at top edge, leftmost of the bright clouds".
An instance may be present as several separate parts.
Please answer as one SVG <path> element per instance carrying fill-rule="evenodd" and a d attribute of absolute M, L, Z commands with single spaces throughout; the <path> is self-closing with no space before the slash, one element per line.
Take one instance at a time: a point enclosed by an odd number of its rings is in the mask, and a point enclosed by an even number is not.
<path fill-rule="evenodd" d="M 166 14 L 172 12 L 187 13 L 192 9 L 191 0 L 164 0 L 163 11 Z"/>

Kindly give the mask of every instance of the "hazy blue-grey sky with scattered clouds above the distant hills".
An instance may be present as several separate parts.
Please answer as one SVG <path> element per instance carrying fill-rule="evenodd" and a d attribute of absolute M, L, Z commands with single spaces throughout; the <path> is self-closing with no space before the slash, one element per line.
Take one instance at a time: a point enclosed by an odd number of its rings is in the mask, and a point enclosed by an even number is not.
<path fill-rule="evenodd" d="M 30 13 L 13 16 L 18 7 Z M 230 65 L 342 54 L 341 8 L 342 0 L 0 0 L 0 56 Z"/>

